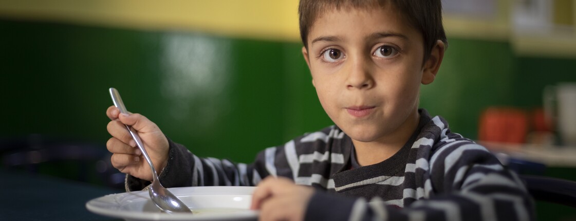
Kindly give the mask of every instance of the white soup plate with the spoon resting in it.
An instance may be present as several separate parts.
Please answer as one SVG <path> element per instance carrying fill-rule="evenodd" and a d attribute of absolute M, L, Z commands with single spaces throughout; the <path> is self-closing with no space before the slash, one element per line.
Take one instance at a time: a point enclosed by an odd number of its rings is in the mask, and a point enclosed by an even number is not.
<path fill-rule="evenodd" d="M 152 203 L 147 190 L 118 193 L 88 201 L 90 212 L 125 220 L 256 220 L 250 210 L 253 186 L 194 186 L 168 188 L 194 212 L 166 214 Z"/>

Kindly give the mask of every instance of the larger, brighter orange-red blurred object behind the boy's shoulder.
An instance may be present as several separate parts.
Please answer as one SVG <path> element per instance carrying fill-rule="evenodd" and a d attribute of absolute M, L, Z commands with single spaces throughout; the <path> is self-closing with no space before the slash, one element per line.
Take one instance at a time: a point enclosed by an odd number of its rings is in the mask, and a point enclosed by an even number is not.
<path fill-rule="evenodd" d="M 527 133 L 528 115 L 521 109 L 492 107 L 480 116 L 479 140 L 524 143 Z"/>

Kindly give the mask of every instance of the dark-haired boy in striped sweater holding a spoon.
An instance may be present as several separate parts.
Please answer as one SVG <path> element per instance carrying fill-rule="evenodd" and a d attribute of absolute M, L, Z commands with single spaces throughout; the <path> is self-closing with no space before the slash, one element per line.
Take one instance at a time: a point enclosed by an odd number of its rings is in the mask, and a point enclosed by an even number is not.
<path fill-rule="evenodd" d="M 127 190 L 151 177 L 122 124 L 138 130 L 164 186 L 258 185 L 262 220 L 533 219 L 516 175 L 418 109 L 420 83 L 434 81 L 447 44 L 440 0 L 301 0 L 299 11 L 302 54 L 336 125 L 246 165 L 200 159 L 111 106 L 107 146 L 130 175 Z"/>

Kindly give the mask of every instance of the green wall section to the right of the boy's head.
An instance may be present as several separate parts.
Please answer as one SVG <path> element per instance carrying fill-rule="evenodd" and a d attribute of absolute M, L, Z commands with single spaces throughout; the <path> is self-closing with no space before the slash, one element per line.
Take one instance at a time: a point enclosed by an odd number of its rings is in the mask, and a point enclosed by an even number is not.
<path fill-rule="evenodd" d="M 449 39 L 437 79 L 422 88 L 420 106 L 476 139 L 480 113 L 488 106 L 530 112 L 541 107 L 545 86 L 566 81 L 576 82 L 576 58 L 518 56 L 505 42 Z"/>

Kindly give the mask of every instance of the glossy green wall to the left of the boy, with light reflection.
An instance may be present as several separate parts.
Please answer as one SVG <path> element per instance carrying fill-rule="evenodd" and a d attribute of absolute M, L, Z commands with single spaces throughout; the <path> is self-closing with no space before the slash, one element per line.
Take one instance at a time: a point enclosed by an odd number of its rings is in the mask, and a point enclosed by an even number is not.
<path fill-rule="evenodd" d="M 0 21 L 4 138 L 109 138 L 108 87 L 201 156 L 257 150 L 329 125 L 300 44 Z"/>

